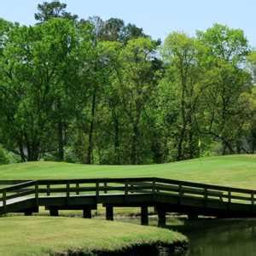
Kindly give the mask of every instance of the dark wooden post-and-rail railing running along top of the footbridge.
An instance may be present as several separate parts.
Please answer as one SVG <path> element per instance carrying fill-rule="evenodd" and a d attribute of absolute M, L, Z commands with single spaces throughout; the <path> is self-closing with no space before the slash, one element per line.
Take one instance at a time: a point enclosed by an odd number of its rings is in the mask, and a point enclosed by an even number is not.
<path fill-rule="evenodd" d="M 15 181 L 9 181 L 9 183 Z M 21 182 L 21 181 L 19 181 Z M 0 183 L 4 183 L 1 181 Z M 180 200 L 196 198 L 204 201 L 245 203 L 254 205 L 256 190 L 232 188 L 204 183 L 184 182 L 158 177 L 49 179 L 25 181 L 0 189 L 0 201 L 5 207 L 11 200 L 44 196 L 79 195 L 172 195 Z"/>

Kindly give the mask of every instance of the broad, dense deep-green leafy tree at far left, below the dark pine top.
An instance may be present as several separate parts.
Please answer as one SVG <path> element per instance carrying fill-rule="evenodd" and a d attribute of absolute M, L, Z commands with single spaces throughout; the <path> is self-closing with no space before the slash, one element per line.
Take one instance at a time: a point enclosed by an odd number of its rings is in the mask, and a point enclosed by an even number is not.
<path fill-rule="evenodd" d="M 16 26 L 9 33 L 1 63 L 0 102 L 5 132 L 13 138 L 22 160 L 38 160 L 54 148 L 48 146 L 55 141 L 55 132 L 48 131 L 55 125 L 59 158 L 63 158 L 63 122 L 73 111 L 65 73 L 73 65 L 77 39 L 73 24 L 61 19 Z"/>

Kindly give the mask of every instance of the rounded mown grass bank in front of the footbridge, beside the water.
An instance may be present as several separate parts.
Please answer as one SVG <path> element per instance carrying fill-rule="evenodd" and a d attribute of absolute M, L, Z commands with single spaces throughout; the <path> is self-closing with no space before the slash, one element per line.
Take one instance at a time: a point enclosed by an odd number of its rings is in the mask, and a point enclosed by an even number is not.
<path fill-rule="evenodd" d="M 0 218 L 0 255 L 113 252 L 154 243 L 187 241 L 171 230 L 83 218 Z"/>

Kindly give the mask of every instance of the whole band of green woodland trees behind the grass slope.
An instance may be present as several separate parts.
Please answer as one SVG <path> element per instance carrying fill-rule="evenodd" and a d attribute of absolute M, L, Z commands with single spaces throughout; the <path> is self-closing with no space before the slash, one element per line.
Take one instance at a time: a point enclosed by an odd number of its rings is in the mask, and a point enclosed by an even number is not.
<path fill-rule="evenodd" d="M 153 40 L 59 1 L 0 20 L 0 142 L 26 160 L 150 164 L 254 153 L 255 53 L 214 24 Z M 218 150 L 212 146 L 218 145 Z"/>

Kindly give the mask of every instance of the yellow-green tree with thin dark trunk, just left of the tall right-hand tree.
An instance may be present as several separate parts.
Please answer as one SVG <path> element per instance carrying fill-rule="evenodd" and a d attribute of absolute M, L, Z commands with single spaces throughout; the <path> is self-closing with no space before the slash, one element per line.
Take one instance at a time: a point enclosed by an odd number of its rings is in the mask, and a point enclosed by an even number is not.
<path fill-rule="evenodd" d="M 173 111 L 179 109 L 176 127 L 172 127 L 176 131 L 173 136 L 176 140 L 174 146 L 177 148 L 177 160 L 199 156 L 196 114 L 200 108 L 201 93 L 207 87 L 207 84 L 202 83 L 204 52 L 205 48 L 197 39 L 179 32 L 170 34 L 162 48 L 168 68 L 165 80 L 169 80 L 169 85 L 166 86 L 176 96 L 177 107 Z"/>

